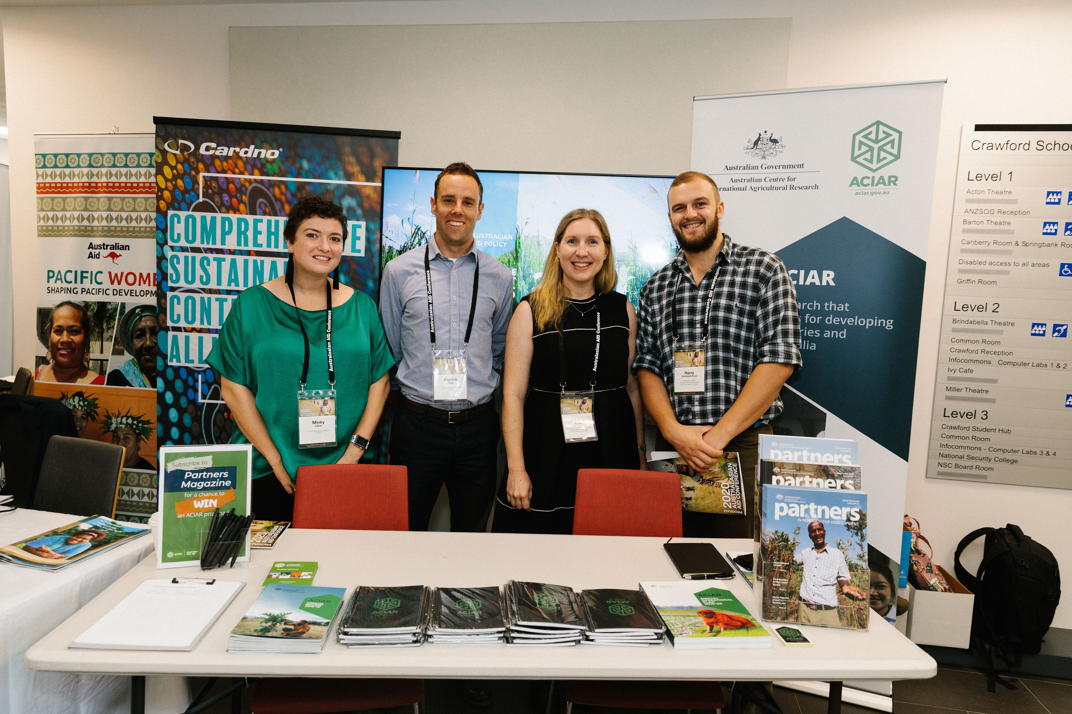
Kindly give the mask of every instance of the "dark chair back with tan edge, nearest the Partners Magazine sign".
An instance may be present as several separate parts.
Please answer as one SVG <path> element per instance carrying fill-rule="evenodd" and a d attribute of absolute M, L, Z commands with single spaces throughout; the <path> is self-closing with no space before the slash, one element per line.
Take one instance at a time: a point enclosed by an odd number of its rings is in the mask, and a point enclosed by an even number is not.
<path fill-rule="evenodd" d="M 38 477 L 33 507 L 75 516 L 116 516 L 126 450 L 92 439 L 53 437 Z"/>

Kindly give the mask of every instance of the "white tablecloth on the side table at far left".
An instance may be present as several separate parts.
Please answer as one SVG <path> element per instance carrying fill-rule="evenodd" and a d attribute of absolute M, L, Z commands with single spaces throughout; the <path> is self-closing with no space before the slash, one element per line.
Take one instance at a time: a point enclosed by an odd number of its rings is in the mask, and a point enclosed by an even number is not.
<path fill-rule="evenodd" d="M 79 519 L 19 508 L 0 514 L 0 545 Z M 152 553 L 152 535 L 56 573 L 0 563 L 0 714 L 122 714 L 130 711 L 130 678 L 35 672 L 30 647 Z M 136 625 L 137 623 L 131 623 Z"/>

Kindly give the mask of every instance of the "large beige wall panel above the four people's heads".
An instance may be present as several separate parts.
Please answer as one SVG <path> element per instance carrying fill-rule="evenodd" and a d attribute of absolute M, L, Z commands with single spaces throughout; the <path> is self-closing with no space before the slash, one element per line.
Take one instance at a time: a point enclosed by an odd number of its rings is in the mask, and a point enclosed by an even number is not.
<path fill-rule="evenodd" d="M 786 18 L 232 28 L 230 113 L 399 130 L 401 166 L 673 176 L 688 169 L 696 88 L 784 88 L 789 29 Z"/>

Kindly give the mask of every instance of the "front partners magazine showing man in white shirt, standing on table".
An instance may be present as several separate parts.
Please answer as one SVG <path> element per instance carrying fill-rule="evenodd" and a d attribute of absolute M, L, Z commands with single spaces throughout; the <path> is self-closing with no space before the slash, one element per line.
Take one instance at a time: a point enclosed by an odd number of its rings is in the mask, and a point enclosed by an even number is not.
<path fill-rule="evenodd" d="M 763 620 L 867 629 L 867 495 L 766 485 L 763 503 Z M 833 583 L 805 566 L 818 558 L 836 573 Z"/>

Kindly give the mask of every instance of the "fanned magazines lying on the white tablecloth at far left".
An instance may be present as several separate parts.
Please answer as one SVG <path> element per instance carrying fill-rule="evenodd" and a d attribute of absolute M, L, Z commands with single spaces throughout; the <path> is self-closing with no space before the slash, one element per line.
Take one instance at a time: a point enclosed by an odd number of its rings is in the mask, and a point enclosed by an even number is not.
<path fill-rule="evenodd" d="M 90 516 L 0 547 L 0 561 L 40 571 L 61 571 L 148 532 L 145 523 Z"/>

